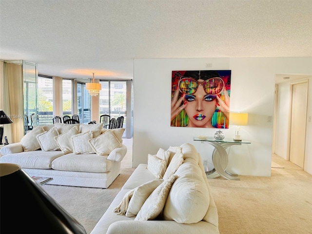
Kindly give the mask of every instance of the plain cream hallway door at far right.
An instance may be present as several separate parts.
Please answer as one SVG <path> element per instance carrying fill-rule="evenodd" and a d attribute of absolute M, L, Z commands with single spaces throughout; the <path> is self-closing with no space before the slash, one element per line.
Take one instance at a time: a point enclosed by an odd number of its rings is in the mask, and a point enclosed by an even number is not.
<path fill-rule="evenodd" d="M 303 168 L 306 136 L 308 81 L 292 84 L 289 160 Z"/>

